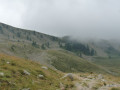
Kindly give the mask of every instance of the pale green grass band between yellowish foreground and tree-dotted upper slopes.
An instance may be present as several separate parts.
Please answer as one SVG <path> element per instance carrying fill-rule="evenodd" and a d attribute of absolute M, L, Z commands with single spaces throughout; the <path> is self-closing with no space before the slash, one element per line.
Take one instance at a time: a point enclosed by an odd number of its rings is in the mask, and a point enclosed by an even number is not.
<path fill-rule="evenodd" d="M 97 57 L 92 63 L 66 50 L 53 50 L 52 48 L 41 50 L 41 48 L 33 47 L 30 43 L 23 42 L 7 41 L 6 43 L 0 43 L 0 48 L 4 50 L 4 53 L 25 59 L 36 60 L 47 65 L 52 64 L 56 69 L 63 72 L 106 73 L 104 69 L 109 69 L 111 72 L 119 73 L 120 70 L 119 58 L 117 57 L 111 57 L 111 59 Z M 14 50 L 11 49 L 13 45 Z M 42 53 L 45 54 L 41 55 Z"/>

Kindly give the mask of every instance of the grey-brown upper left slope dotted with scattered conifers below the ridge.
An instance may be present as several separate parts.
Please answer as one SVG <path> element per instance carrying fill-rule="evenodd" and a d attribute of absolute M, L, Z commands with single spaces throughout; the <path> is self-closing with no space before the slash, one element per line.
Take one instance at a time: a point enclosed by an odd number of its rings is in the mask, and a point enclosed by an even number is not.
<path fill-rule="evenodd" d="M 0 23 L 0 42 L 1 41 L 17 41 L 32 43 L 34 47 L 56 47 L 56 42 L 60 39 L 54 36 L 46 35 L 36 31 L 30 31 L 20 28 L 15 28 L 3 23 Z"/>

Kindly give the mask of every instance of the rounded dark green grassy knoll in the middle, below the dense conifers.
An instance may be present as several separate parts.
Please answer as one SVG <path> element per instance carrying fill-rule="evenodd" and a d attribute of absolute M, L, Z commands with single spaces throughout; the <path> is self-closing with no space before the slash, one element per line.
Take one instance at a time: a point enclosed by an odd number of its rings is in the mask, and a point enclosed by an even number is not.
<path fill-rule="evenodd" d="M 52 65 L 63 72 L 97 72 L 104 70 L 72 53 L 63 50 L 48 50 Z"/>

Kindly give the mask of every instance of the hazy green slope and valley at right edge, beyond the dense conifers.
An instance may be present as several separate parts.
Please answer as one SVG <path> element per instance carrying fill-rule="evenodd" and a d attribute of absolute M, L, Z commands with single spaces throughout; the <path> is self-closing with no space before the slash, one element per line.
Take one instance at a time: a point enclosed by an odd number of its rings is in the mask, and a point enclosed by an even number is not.
<path fill-rule="evenodd" d="M 91 61 L 96 65 L 104 67 L 112 75 L 120 75 L 119 41 L 99 40 L 94 42 L 94 46 L 97 48 L 97 56 L 93 57 Z"/>

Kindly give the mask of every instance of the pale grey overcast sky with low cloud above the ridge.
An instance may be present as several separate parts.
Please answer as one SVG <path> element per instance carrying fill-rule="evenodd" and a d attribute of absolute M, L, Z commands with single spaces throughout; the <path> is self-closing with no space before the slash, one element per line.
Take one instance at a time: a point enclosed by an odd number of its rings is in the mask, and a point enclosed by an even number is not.
<path fill-rule="evenodd" d="M 55 36 L 120 38 L 120 0 L 0 0 L 0 22 Z"/>

